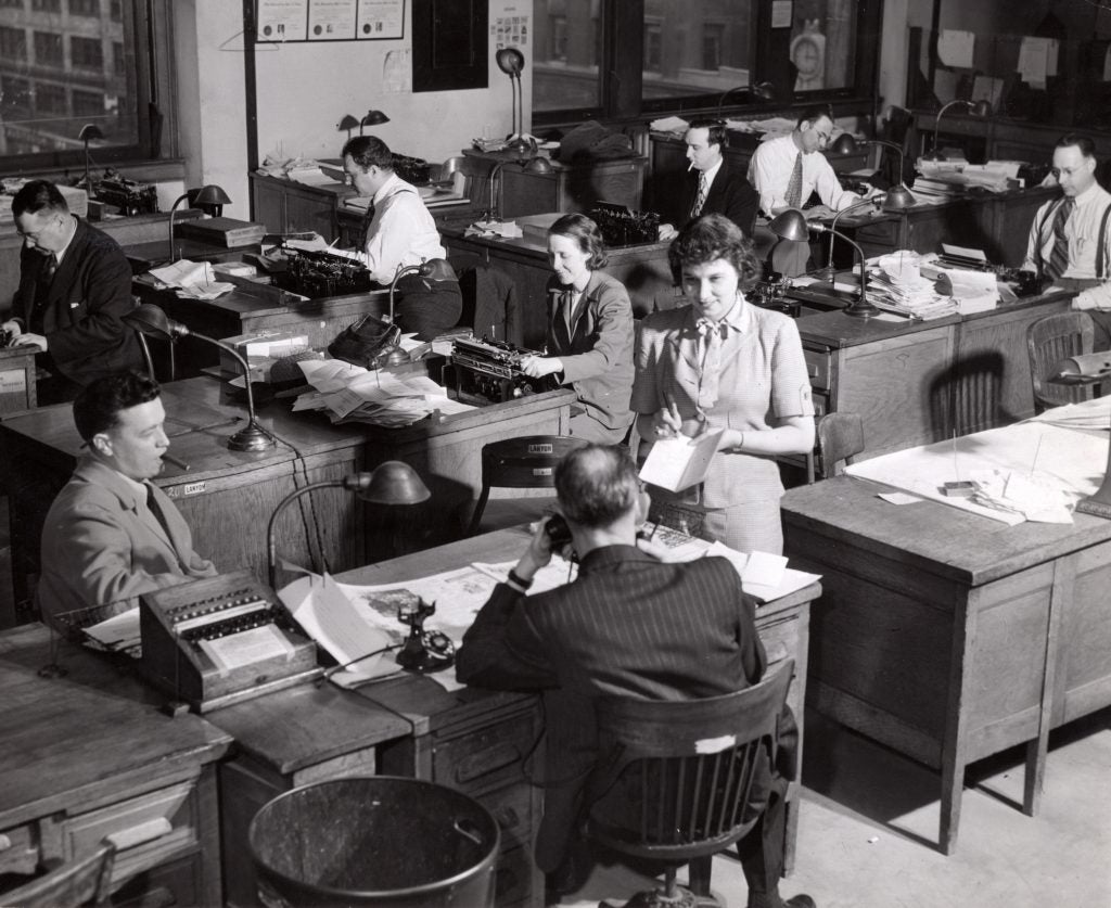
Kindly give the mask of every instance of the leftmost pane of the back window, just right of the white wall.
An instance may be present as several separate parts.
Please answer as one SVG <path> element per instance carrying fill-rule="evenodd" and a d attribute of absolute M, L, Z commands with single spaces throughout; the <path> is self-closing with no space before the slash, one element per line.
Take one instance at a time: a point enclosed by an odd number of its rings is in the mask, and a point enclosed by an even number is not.
<path fill-rule="evenodd" d="M 601 104 L 599 7 L 599 0 L 536 0 L 533 3 L 533 112 L 585 110 Z"/>

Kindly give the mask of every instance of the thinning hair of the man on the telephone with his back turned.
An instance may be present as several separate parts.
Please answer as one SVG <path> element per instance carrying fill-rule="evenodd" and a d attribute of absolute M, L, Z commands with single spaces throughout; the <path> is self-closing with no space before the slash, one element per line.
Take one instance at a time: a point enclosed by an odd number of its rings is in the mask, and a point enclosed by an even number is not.
<path fill-rule="evenodd" d="M 556 495 L 568 520 L 582 527 L 609 527 L 637 503 L 640 479 L 629 449 L 585 445 L 556 466 Z"/>

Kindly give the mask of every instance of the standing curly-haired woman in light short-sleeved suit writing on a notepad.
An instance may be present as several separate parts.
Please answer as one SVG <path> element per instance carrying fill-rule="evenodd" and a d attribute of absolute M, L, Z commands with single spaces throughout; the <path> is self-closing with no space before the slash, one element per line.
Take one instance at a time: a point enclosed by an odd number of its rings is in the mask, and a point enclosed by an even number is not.
<path fill-rule="evenodd" d="M 661 522 L 739 551 L 779 555 L 783 486 L 775 455 L 814 443 L 814 406 L 799 329 L 744 290 L 760 275 L 752 243 L 723 214 L 687 224 L 668 250 L 687 306 L 641 325 L 632 409 L 644 442 L 721 430 L 705 481 L 650 487 Z M 641 451 L 645 450 L 642 443 Z"/>

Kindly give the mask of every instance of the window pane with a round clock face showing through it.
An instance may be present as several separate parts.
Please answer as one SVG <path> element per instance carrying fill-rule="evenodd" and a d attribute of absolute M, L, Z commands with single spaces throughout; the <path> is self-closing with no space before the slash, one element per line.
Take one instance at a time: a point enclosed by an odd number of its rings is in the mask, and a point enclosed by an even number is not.
<path fill-rule="evenodd" d="M 852 0 L 795 0 L 791 63 L 795 91 L 852 84 L 857 4 Z"/>

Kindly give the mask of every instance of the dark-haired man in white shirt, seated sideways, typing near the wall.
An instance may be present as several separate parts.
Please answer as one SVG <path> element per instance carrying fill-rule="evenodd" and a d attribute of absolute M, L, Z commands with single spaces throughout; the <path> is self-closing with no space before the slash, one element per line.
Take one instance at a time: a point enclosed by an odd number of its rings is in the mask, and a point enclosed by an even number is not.
<path fill-rule="evenodd" d="M 393 172 L 393 156 L 386 142 L 374 136 L 349 139 L 343 146 L 343 172 L 360 196 L 371 198 L 356 249 L 372 280 L 389 285 L 398 268 L 447 256 L 417 187 Z M 447 280 L 406 275 L 398 281 L 396 298 L 401 330 L 420 340 L 450 331 L 463 310 L 453 275 Z"/>

